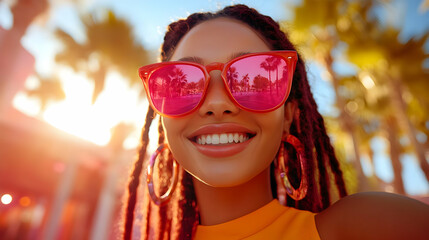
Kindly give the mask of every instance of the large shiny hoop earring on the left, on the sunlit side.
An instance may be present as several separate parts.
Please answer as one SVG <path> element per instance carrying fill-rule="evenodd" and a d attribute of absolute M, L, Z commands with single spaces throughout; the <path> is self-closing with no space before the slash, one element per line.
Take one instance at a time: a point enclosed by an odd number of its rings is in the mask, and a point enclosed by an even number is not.
<path fill-rule="evenodd" d="M 156 158 L 160 153 L 162 153 L 162 150 L 166 148 L 166 144 L 160 144 L 156 151 L 152 154 L 149 160 L 149 165 L 147 166 L 147 188 L 149 190 L 149 196 L 152 199 L 152 202 L 156 205 L 162 205 L 166 201 L 168 201 L 171 198 L 171 194 L 174 192 L 174 189 L 176 188 L 177 184 L 177 178 L 178 178 L 178 172 L 179 172 L 179 165 L 176 163 L 176 161 L 173 159 L 173 180 L 168 187 L 167 191 L 160 197 L 158 197 L 155 193 L 155 189 L 153 186 L 153 167 L 155 166 Z"/>

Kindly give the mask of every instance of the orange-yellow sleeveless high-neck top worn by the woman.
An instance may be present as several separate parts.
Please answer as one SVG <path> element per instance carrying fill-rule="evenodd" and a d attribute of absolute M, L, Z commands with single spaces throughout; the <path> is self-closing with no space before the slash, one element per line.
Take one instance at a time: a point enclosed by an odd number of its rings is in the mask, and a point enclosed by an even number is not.
<path fill-rule="evenodd" d="M 315 213 L 281 205 L 277 199 L 240 218 L 212 226 L 198 225 L 194 239 L 320 240 Z"/>

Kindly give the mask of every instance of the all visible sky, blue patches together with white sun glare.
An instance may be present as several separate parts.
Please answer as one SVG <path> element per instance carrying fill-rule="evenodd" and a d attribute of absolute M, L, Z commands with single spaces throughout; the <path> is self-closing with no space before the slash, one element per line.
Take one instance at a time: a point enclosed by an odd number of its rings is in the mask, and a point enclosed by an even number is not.
<path fill-rule="evenodd" d="M 7 7 L 8 2 L 0 1 L 0 26 L 5 29 L 10 28 L 13 24 Z M 61 44 L 54 38 L 54 29 L 61 28 L 71 34 L 76 41 L 85 41 L 83 25 L 79 20 L 79 12 L 92 13 L 95 17 L 100 17 L 98 16 L 102 12 L 99 11 L 100 9 L 113 10 L 119 18 L 123 18 L 132 24 L 136 41 L 152 51 L 154 55 L 157 55 L 167 25 L 172 21 L 188 16 L 190 13 L 214 11 L 231 3 L 244 3 L 256 8 L 263 14 L 271 16 L 275 20 L 287 20 L 292 18 L 292 12 L 288 11 L 288 6 L 299 4 L 300 1 L 80 0 L 77 2 L 80 4 L 74 5 L 67 0 L 51 0 L 49 17 L 45 16 L 39 19 L 36 24 L 28 29 L 27 34 L 22 39 L 23 46 L 35 56 L 35 67 L 41 75 L 50 75 L 54 70 L 58 69 L 53 59 L 55 54 L 61 50 Z M 400 39 L 407 41 L 411 37 L 419 37 L 422 33 L 429 31 L 429 11 L 423 12 L 419 9 L 421 2 L 420 0 L 393 0 L 391 6 L 383 5 L 375 11 L 375 14 L 383 24 L 401 29 Z M 429 52 L 429 43 L 426 44 L 426 50 Z M 353 66 L 341 61 L 336 62 L 334 67 L 335 70 L 343 74 L 353 74 L 355 72 Z M 335 115 L 336 112 L 333 107 L 335 102 L 334 93 L 330 83 L 323 79 L 323 69 L 311 62 L 308 63 L 308 69 L 310 84 L 319 105 L 319 110 L 322 114 Z M 85 79 L 85 76 L 73 73 L 67 68 L 62 69 L 58 74 L 63 76 L 62 83 L 66 86 L 66 95 L 69 99 L 74 99 L 74 105 L 71 106 L 71 102 L 52 105 L 43 116 L 47 122 L 99 145 L 106 144 L 110 137 L 110 133 L 106 129 L 124 121 L 124 118 L 127 119 L 126 121 L 131 121 L 141 127 L 144 121 L 144 114 L 141 113 L 145 111 L 147 103 L 138 102 L 138 91 L 130 89 L 119 81 L 118 79 L 121 79 L 121 77 L 117 76 L 117 74 L 111 73 L 108 75 L 106 91 L 100 95 L 100 99 L 97 100 L 94 106 L 88 104 L 91 99 L 91 85 Z M 32 84 L 35 84 L 34 82 L 31 79 L 28 80 L 27 86 L 31 87 Z M 122 99 L 121 103 L 111 101 L 112 99 L 122 98 L 120 96 L 124 95 L 127 96 L 127 99 Z M 37 108 L 34 107 L 37 104 L 34 101 L 26 98 L 23 94 L 17 98 L 33 106 L 23 108 L 22 111 L 27 111 L 26 113 L 29 115 L 37 115 Z M 107 105 L 109 108 L 105 107 Z M 124 105 L 129 107 L 124 107 Z M 66 111 L 64 111 L 65 108 Z M 61 112 L 61 109 L 64 112 Z M 65 120 L 70 116 L 79 115 L 85 117 L 73 119 L 73 122 Z M 130 139 L 130 146 L 136 145 L 138 131 Z M 384 154 L 387 148 L 386 143 L 382 139 L 374 139 L 372 146 L 376 150 L 375 171 L 377 175 L 385 181 L 391 181 L 393 173 L 390 161 Z M 401 161 L 404 165 L 403 176 L 406 190 L 410 194 L 428 193 L 429 185 L 414 157 L 404 155 Z M 366 166 L 365 161 L 363 163 Z M 367 173 L 372 171 L 368 167 L 364 170 Z"/>

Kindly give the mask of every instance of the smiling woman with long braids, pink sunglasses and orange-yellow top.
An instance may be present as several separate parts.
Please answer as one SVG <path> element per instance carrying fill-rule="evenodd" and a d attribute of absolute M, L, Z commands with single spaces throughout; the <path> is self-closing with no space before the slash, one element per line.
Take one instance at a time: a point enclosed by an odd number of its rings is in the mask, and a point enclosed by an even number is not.
<path fill-rule="evenodd" d="M 387 193 L 342 198 L 342 173 L 304 62 L 270 17 L 244 5 L 192 14 L 170 24 L 161 60 L 139 69 L 151 107 L 124 239 L 143 165 L 143 239 L 425 237 L 429 207 L 418 201 Z M 154 111 L 160 147 L 143 164 Z M 342 198 L 332 206 L 331 182 Z"/>

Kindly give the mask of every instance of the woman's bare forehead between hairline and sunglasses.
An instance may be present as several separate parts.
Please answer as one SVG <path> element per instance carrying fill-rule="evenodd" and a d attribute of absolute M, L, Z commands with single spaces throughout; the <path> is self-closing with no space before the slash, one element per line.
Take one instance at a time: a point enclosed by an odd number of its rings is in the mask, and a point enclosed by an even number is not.
<path fill-rule="evenodd" d="M 176 46 L 171 60 L 199 57 L 204 62 L 225 62 L 235 53 L 263 52 L 270 47 L 248 25 L 229 18 L 216 18 L 192 28 Z"/>

